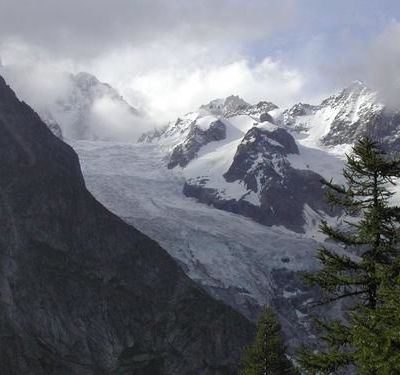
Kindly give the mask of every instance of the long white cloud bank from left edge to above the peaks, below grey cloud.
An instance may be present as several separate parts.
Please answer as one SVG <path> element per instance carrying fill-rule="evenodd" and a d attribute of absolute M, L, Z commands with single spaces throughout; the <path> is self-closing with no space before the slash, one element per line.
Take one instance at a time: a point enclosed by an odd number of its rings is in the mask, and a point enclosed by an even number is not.
<path fill-rule="evenodd" d="M 270 58 L 252 61 L 217 42 L 182 45 L 179 39 L 171 38 L 168 43 L 125 47 L 80 63 L 54 59 L 20 41 L 8 43 L 2 51 L 3 74 L 34 108 L 52 106 L 68 92 L 65 71 L 87 71 L 110 83 L 134 107 L 153 118 L 152 123 L 146 120 L 139 128 L 164 125 L 201 104 L 231 94 L 251 103 L 271 100 L 278 105 L 291 104 L 300 96 L 304 83 L 296 69 Z M 106 122 L 101 125 L 104 134 Z"/>

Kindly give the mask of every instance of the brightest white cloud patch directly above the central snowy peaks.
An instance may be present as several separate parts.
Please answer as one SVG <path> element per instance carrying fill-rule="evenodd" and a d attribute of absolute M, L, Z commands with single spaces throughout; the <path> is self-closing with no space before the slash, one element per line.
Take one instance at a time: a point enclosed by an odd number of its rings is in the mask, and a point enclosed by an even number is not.
<path fill-rule="evenodd" d="M 156 117 L 167 119 L 195 110 L 201 104 L 231 94 L 250 103 L 271 100 L 279 105 L 295 101 L 304 83 L 303 76 L 269 58 L 251 64 L 241 59 L 229 64 L 183 71 L 151 70 L 132 77 L 124 91 L 132 100 L 141 98 Z"/>

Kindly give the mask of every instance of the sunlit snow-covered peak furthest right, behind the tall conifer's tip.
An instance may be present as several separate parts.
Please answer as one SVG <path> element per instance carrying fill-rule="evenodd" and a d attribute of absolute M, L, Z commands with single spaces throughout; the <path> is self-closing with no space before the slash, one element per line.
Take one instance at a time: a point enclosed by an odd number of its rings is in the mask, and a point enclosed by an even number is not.
<path fill-rule="evenodd" d="M 385 106 L 378 93 L 360 81 L 319 105 L 299 103 L 285 110 L 277 123 L 300 133 L 303 145 L 328 152 L 363 135 L 382 142 L 388 151 L 400 150 L 400 112 Z"/>

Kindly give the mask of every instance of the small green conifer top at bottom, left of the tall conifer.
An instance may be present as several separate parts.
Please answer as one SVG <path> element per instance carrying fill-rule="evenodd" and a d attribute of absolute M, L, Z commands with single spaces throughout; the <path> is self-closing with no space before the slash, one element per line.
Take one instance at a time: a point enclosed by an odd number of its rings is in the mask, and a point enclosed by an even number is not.
<path fill-rule="evenodd" d="M 286 357 L 281 326 L 269 307 L 260 313 L 257 336 L 252 346 L 245 349 L 240 374 L 294 375 L 297 374 Z"/>

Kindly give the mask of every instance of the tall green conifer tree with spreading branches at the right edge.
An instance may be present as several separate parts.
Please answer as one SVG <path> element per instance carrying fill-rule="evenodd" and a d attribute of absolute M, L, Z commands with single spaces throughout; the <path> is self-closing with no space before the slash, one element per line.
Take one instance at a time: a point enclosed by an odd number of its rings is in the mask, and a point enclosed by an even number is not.
<path fill-rule="evenodd" d="M 371 344 L 379 345 L 379 330 L 399 304 L 393 289 L 385 292 L 385 286 L 395 284 L 400 269 L 399 209 L 389 204 L 393 195 L 389 186 L 400 176 L 400 161 L 388 158 L 377 143 L 363 138 L 347 156 L 343 175 L 345 185 L 332 181 L 325 185 L 328 201 L 343 207 L 348 215 L 347 228 L 333 228 L 327 222 L 320 228 L 352 255 L 321 247 L 317 258 L 322 267 L 306 279 L 321 288 L 321 303 L 350 298 L 352 305 L 346 322 L 318 321 L 325 347 L 318 353 L 301 350 L 299 362 L 307 374 L 333 374 L 349 366 L 360 374 L 383 374 L 379 369 L 384 358 L 376 356 L 376 363 L 368 365 L 367 357 L 374 351 L 378 354 L 379 349 Z M 398 352 L 388 348 L 386 357 L 398 358 Z"/>

